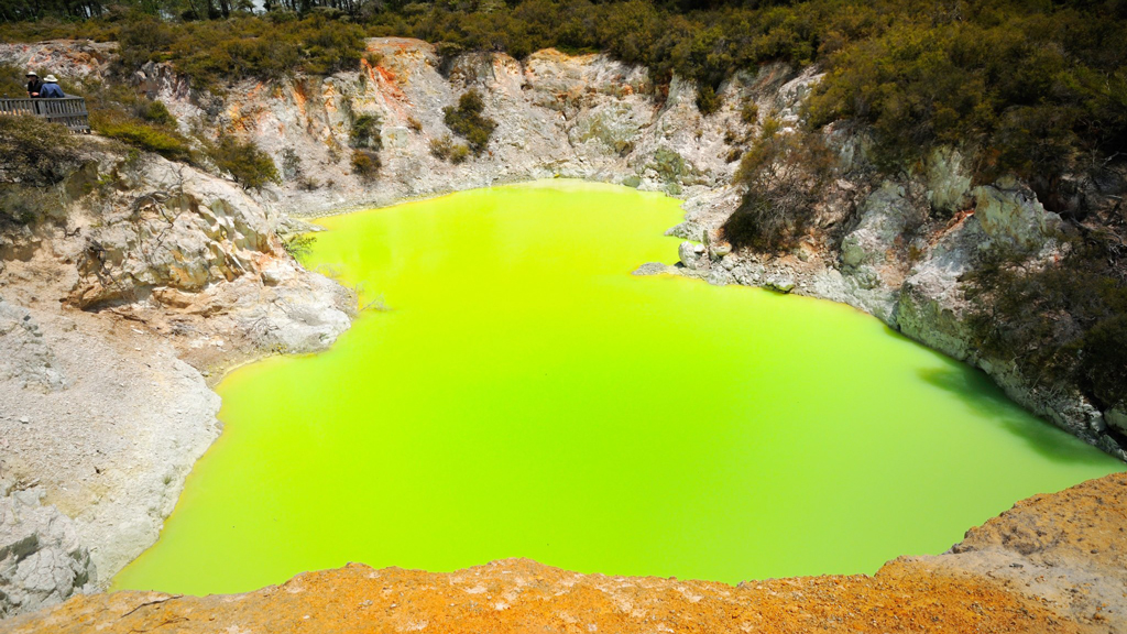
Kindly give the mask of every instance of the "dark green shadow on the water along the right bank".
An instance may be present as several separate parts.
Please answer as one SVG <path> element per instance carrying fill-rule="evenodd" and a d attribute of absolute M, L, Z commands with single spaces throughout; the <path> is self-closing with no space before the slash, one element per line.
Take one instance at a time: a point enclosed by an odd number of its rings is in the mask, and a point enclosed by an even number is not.
<path fill-rule="evenodd" d="M 921 379 L 948 390 L 976 414 L 997 422 L 1049 460 L 1064 464 L 1085 463 L 1092 459 L 1093 447 L 1022 410 L 1006 397 L 985 372 L 959 361 L 939 356 L 943 366 L 919 370 Z"/>

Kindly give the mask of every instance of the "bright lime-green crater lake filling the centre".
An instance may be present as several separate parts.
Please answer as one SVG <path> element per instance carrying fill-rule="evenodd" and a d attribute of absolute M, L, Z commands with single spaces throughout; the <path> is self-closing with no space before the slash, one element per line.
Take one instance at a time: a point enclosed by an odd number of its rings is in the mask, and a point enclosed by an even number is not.
<path fill-rule="evenodd" d="M 1122 468 L 845 306 L 675 276 L 677 201 L 569 182 L 329 218 L 367 310 L 219 388 L 225 431 L 117 589 L 531 557 L 738 582 L 938 554 Z"/>

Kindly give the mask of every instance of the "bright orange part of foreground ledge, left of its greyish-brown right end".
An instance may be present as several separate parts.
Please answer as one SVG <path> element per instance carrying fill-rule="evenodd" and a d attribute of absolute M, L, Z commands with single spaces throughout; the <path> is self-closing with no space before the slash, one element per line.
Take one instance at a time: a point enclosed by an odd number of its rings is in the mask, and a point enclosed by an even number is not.
<path fill-rule="evenodd" d="M 1084 632 L 988 580 L 894 562 L 876 576 L 744 583 L 584 575 L 527 560 L 454 573 L 362 564 L 247 595 L 81 596 L 24 633 Z"/>

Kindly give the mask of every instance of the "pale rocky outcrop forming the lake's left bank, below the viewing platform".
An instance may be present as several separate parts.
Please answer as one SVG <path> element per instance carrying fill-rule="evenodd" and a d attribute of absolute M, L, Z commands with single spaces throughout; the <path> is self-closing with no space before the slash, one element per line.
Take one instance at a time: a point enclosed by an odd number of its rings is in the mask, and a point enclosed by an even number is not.
<path fill-rule="evenodd" d="M 43 497 L 0 495 L 5 615 L 104 588 L 157 540 L 219 435 L 202 372 L 323 350 L 356 309 L 285 252 L 269 200 L 86 144 L 57 192 L 65 222 L 0 267 L 0 478 Z"/>

